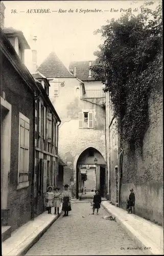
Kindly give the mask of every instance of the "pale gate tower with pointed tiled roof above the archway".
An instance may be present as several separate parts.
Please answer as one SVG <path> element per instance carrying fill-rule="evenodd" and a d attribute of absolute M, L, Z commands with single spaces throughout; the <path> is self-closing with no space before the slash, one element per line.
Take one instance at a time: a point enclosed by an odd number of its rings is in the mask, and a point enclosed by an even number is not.
<path fill-rule="evenodd" d="M 78 194 L 76 191 L 80 191 L 81 170 L 78 160 L 81 154 L 84 151 L 88 154 L 86 150 L 93 148 L 94 154 L 85 164 L 92 164 L 96 168 L 95 152 L 100 154 L 100 159 L 103 158 L 103 162 L 98 161 L 98 164 L 105 164 L 105 95 L 102 83 L 93 77 L 82 81 L 78 73 L 75 76 L 64 67 L 55 53 L 43 61 L 38 71 L 53 79 L 50 81 L 50 99 L 61 118 L 59 154 L 67 164 L 64 167 L 64 183 L 71 185 L 75 196 Z M 87 77 L 89 72 L 88 61 Z"/>

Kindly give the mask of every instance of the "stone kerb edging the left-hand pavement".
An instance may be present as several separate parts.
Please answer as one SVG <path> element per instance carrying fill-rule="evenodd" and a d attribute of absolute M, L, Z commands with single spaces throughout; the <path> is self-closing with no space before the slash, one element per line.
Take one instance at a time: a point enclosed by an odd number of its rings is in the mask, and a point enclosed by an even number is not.
<path fill-rule="evenodd" d="M 30 248 L 38 242 L 38 240 L 42 237 L 42 235 L 46 232 L 46 230 L 48 230 L 49 227 L 51 227 L 51 225 L 60 217 L 62 213 L 63 211 L 60 211 L 59 215 L 55 216 L 55 218 L 46 227 L 44 227 L 43 230 L 41 230 L 36 235 L 36 237 L 33 238 L 32 241 L 29 241 L 29 243 L 24 248 L 20 249 L 19 252 L 14 256 L 24 256 L 28 252 L 28 250 L 30 250 Z M 6 256 L 6 255 L 3 255 L 3 256 Z"/>

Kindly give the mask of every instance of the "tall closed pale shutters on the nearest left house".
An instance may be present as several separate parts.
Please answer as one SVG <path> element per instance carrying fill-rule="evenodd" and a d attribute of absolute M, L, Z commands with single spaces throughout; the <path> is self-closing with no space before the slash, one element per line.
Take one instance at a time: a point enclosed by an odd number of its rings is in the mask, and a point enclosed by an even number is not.
<path fill-rule="evenodd" d="M 28 181 L 29 175 L 29 134 L 30 120 L 19 114 L 19 161 L 18 161 L 18 183 Z"/>

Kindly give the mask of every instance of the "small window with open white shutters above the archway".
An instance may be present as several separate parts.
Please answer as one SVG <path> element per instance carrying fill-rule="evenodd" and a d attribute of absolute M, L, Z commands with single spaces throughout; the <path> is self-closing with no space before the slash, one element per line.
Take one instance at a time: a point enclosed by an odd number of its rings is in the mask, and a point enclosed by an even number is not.
<path fill-rule="evenodd" d="M 93 113 L 80 112 L 79 113 L 79 128 L 93 128 Z"/>

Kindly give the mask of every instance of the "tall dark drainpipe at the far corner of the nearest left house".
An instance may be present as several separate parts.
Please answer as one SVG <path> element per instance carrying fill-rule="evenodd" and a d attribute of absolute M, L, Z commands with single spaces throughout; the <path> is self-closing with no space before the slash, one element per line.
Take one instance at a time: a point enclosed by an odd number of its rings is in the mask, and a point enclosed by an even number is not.
<path fill-rule="evenodd" d="M 33 98 L 33 168 L 31 184 L 31 219 L 34 220 L 34 175 L 35 175 L 35 93 Z"/>

